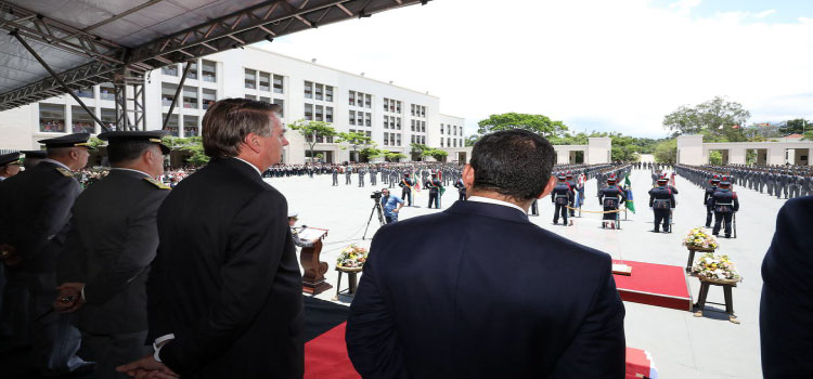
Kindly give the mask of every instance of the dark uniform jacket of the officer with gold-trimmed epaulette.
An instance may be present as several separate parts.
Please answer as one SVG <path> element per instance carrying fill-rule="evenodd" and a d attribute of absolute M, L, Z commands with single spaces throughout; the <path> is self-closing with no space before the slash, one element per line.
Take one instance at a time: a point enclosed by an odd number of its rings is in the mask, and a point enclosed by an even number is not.
<path fill-rule="evenodd" d="M 86 284 L 77 323 L 87 332 L 146 330 L 146 272 L 158 248 L 155 215 L 169 194 L 147 179 L 111 170 L 74 204 L 57 282 Z"/>

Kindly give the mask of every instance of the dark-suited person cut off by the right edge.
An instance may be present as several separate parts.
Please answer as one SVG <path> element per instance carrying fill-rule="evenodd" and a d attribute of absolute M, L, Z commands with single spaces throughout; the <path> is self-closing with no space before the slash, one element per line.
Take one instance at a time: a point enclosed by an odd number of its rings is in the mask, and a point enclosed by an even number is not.
<path fill-rule="evenodd" d="M 813 377 L 813 196 L 779 209 L 762 261 L 760 342 L 765 378 Z"/>

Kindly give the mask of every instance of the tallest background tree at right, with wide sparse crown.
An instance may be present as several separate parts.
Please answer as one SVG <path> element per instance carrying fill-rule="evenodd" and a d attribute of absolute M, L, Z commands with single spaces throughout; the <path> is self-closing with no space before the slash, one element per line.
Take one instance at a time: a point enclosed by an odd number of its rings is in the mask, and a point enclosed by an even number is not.
<path fill-rule="evenodd" d="M 712 139 L 740 142 L 747 141 L 743 127 L 750 117 L 751 114 L 739 103 L 717 96 L 694 107 L 680 106 L 663 117 L 663 127 L 671 130 L 673 136 L 702 133 Z"/>

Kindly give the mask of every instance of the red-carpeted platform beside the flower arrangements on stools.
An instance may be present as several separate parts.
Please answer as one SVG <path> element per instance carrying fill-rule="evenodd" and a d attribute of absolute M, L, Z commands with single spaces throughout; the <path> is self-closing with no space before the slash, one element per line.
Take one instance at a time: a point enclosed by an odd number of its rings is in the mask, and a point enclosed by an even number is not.
<path fill-rule="evenodd" d="M 612 275 L 621 300 L 692 311 L 692 296 L 684 267 L 614 260 L 632 266 L 632 275 Z"/>

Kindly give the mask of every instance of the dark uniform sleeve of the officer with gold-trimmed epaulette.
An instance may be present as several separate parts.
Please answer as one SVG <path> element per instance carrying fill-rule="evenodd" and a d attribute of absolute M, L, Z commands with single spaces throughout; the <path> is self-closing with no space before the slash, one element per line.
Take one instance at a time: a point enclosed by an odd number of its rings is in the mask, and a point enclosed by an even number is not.
<path fill-rule="evenodd" d="M 88 303 L 107 302 L 147 269 L 158 248 L 156 213 L 167 194 L 168 191 L 156 188 L 152 196 L 133 206 L 140 211 L 127 220 L 127 237 L 121 241 L 121 252 L 115 260 L 103 262 L 99 274 L 89 278 L 85 286 Z"/>

